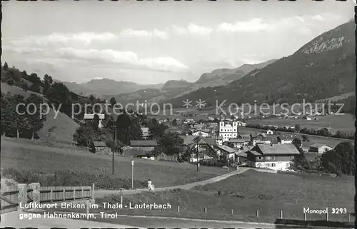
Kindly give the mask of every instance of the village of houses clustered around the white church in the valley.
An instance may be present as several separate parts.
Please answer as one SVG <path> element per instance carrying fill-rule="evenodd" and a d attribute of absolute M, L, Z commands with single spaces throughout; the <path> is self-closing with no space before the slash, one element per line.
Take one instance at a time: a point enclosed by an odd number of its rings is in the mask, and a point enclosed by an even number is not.
<path fill-rule="evenodd" d="M 148 160 L 186 161 L 196 163 L 198 167 L 201 164 L 294 171 L 294 158 L 301 153 L 306 154 L 310 163 L 318 163 L 319 156 L 333 149 L 323 143 L 314 143 L 307 136 L 296 135 L 295 126 L 284 126 L 287 132 L 276 131 L 278 126 L 273 125 L 264 126 L 265 130 L 249 131 L 246 122 L 238 117 L 218 118 L 207 116 L 199 121 L 195 118 L 158 118 L 160 124 L 167 126 L 166 133 L 174 133 L 182 139 L 178 154 L 155 155 L 159 142 L 148 139 L 148 127 L 141 127 L 141 140 L 131 140 L 129 146 L 122 146 L 115 154 Z M 333 131 L 331 128 L 325 129 Z M 111 154 L 105 142 L 94 141 L 94 147 L 98 153 Z"/>

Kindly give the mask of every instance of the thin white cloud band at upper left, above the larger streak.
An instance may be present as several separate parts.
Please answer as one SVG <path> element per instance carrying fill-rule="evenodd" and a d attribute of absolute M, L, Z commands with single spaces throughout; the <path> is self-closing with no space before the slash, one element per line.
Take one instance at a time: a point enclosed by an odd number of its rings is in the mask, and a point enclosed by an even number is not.
<path fill-rule="evenodd" d="M 14 46 L 48 46 L 53 44 L 68 44 L 69 42 L 75 42 L 79 44 L 91 44 L 93 41 L 111 41 L 116 36 L 111 33 L 96 34 L 93 32 L 83 32 L 78 34 L 61 34 L 54 33 L 46 36 L 29 36 L 21 39 L 6 39 L 10 44 Z"/>

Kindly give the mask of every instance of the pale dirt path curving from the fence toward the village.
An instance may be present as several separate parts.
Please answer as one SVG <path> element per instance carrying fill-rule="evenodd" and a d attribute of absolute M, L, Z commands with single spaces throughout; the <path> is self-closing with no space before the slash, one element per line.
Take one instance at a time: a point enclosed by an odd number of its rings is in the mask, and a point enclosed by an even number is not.
<path fill-rule="evenodd" d="M 211 178 L 208 180 L 202 180 L 202 181 L 197 181 L 194 183 L 187 183 L 185 185 L 177 185 L 177 186 L 171 186 L 171 187 L 166 187 L 166 188 L 155 188 L 155 191 L 160 192 L 160 191 L 164 191 L 164 190 L 173 190 L 176 188 L 188 190 L 188 189 L 194 188 L 196 186 L 207 185 L 209 183 L 216 183 L 221 180 L 226 180 L 226 178 L 229 178 L 232 175 L 238 175 L 238 174 L 244 173 L 244 172 L 248 171 L 249 169 L 251 169 L 251 168 L 239 168 L 238 171 L 233 171 L 231 173 L 218 175 L 217 177 Z M 128 194 L 135 194 L 135 193 L 142 193 L 142 192 L 149 192 L 149 190 L 147 188 L 134 189 L 134 190 L 96 190 L 94 192 L 94 198 L 103 198 L 106 195 L 128 195 Z"/>

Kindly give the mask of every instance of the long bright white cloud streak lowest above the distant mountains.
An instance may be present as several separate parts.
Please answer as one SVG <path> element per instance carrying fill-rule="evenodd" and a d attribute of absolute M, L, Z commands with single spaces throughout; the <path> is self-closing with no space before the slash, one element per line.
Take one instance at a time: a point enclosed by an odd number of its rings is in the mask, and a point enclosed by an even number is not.
<path fill-rule="evenodd" d="M 184 71 L 188 66 L 172 57 L 139 58 L 132 51 L 114 51 L 112 49 L 56 49 L 56 54 L 63 58 L 79 58 L 104 63 L 119 63 L 126 68 L 144 68 L 154 71 Z"/>

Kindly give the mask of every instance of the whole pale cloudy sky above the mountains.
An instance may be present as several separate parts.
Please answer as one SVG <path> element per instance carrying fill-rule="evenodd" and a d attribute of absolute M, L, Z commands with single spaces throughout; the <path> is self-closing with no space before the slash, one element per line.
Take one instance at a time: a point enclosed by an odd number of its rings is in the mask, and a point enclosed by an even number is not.
<path fill-rule="evenodd" d="M 3 1 L 1 62 L 41 78 L 197 81 L 289 56 L 354 1 Z"/>

